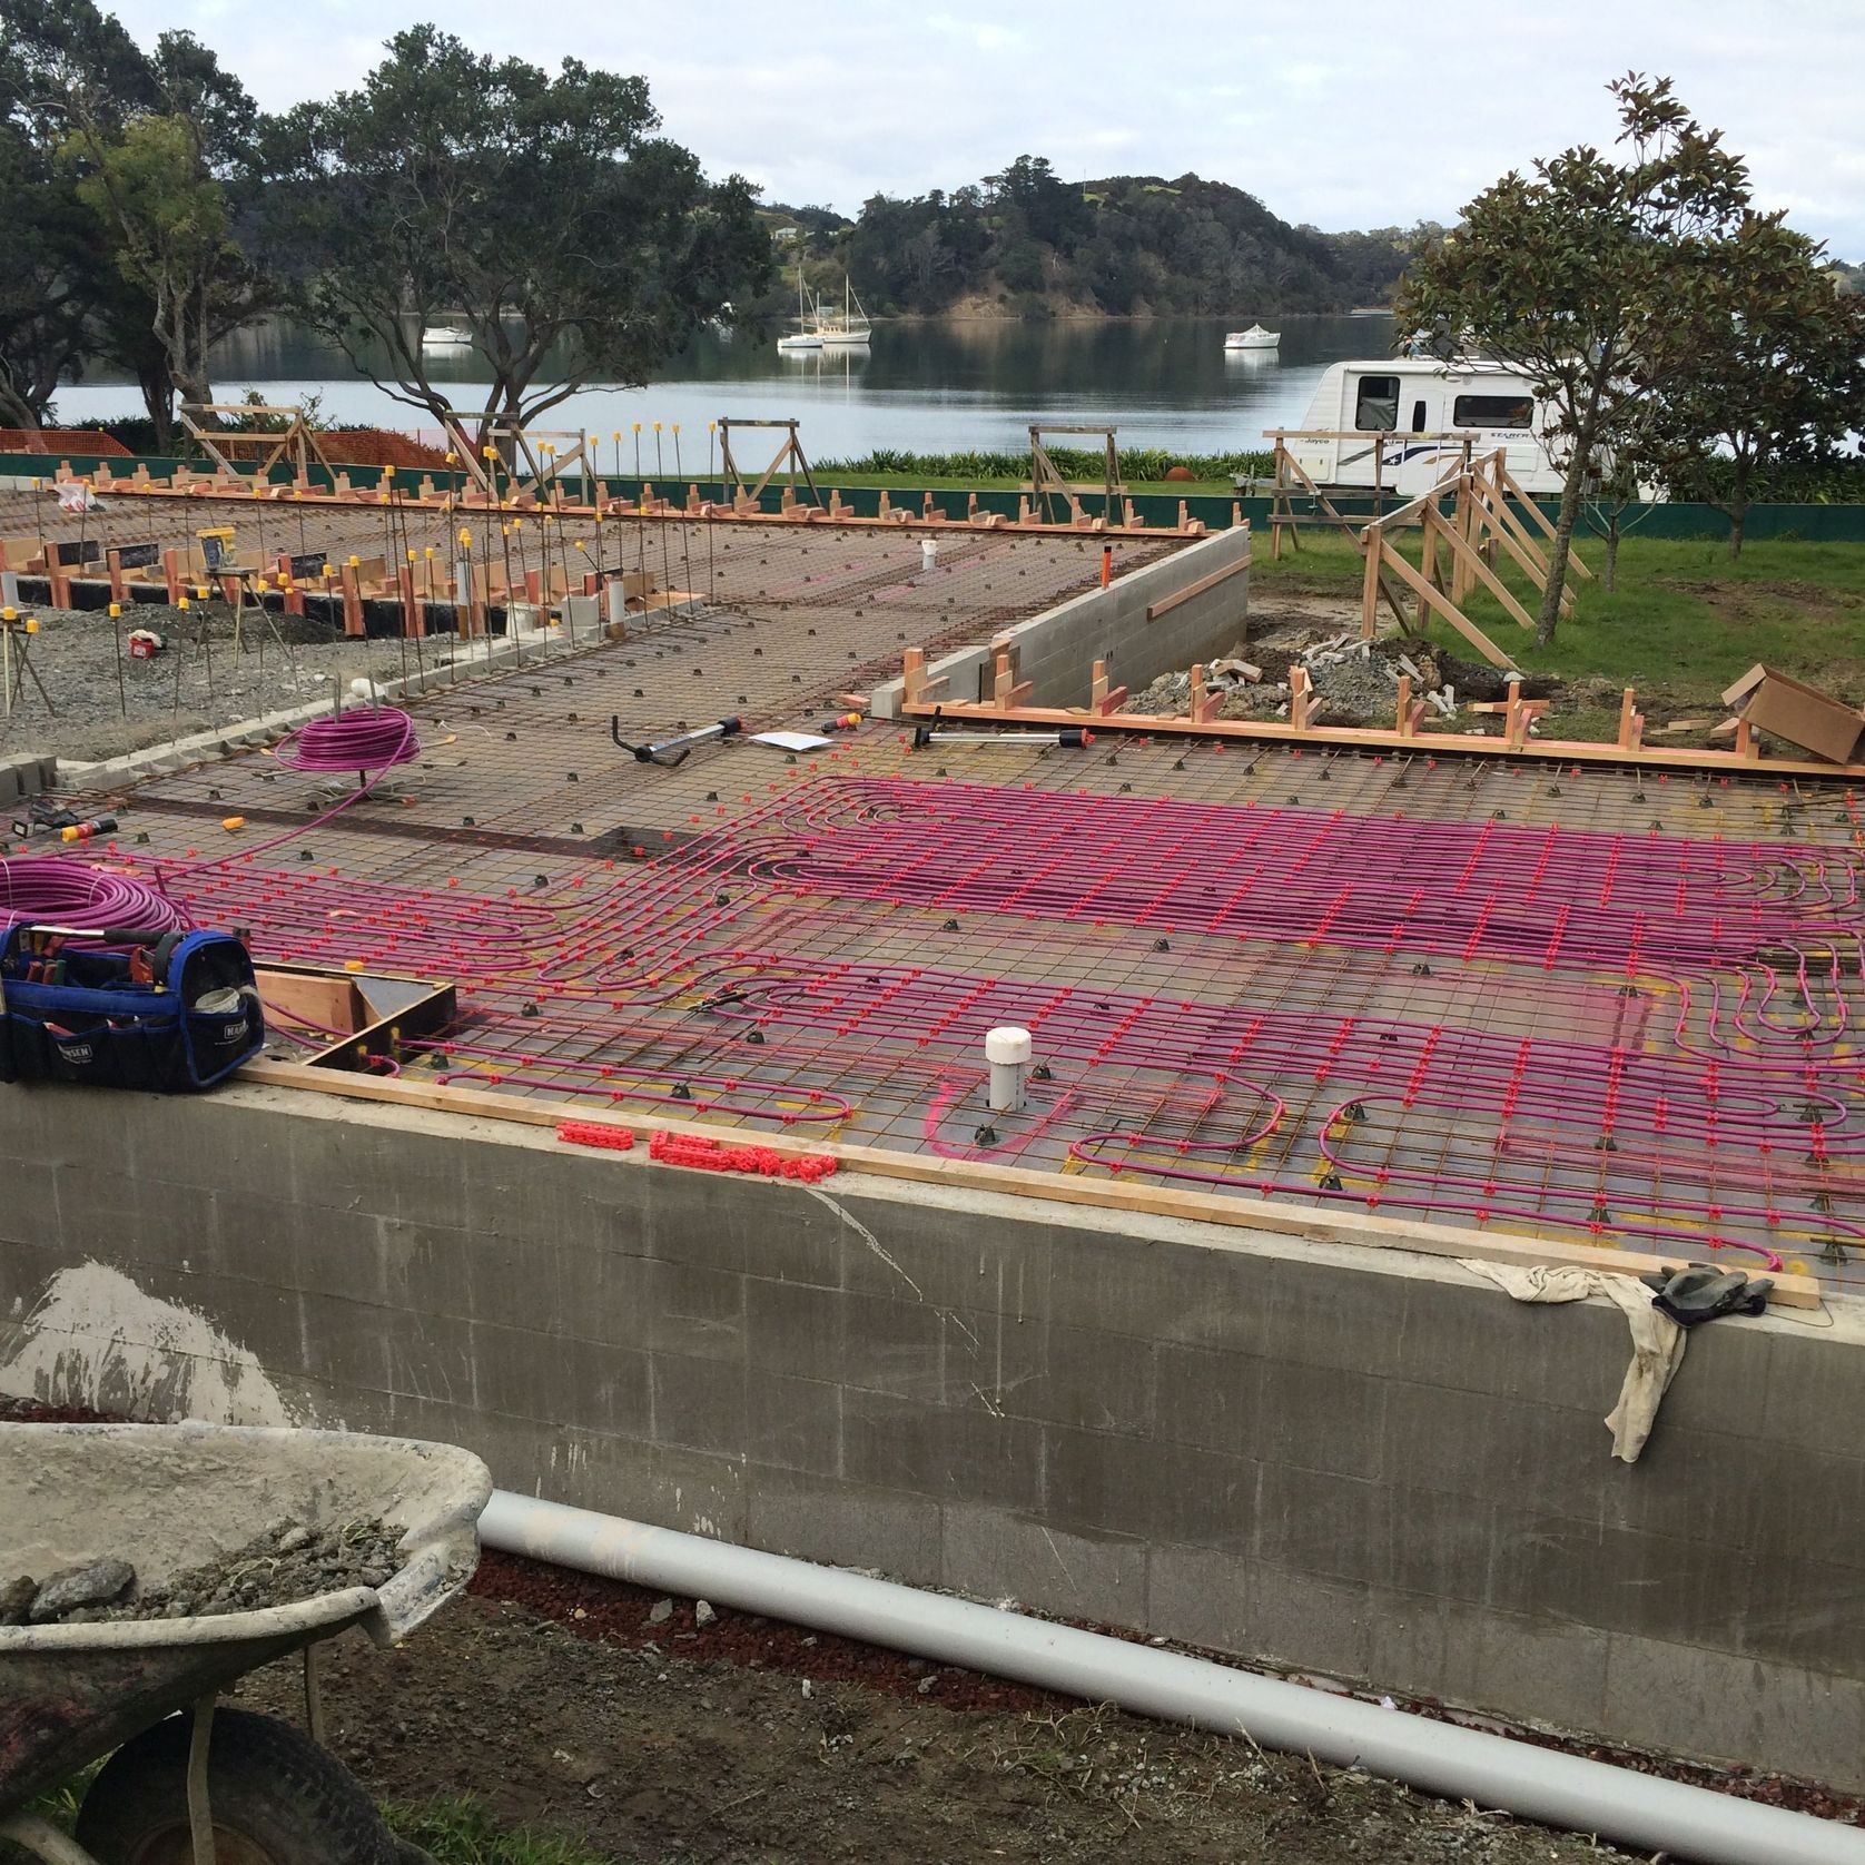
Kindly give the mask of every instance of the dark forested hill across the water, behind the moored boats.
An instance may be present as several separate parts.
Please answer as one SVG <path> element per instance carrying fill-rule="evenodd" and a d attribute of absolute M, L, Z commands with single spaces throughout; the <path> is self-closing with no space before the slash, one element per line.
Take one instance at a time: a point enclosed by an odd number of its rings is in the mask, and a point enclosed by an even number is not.
<path fill-rule="evenodd" d="M 1223 181 L 1113 175 L 1063 181 L 1018 157 L 979 183 L 895 200 L 858 220 L 768 209 L 787 272 L 768 300 L 794 304 L 794 259 L 839 291 L 847 267 L 869 311 L 1130 317 L 1268 315 L 1384 304 L 1427 231 L 1320 233 L 1279 220 Z"/>

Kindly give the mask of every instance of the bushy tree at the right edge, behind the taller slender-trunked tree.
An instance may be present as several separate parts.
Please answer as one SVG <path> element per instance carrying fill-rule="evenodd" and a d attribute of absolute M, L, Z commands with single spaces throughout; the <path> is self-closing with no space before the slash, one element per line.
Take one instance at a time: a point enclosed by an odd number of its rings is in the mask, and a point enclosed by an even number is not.
<path fill-rule="evenodd" d="M 1727 513 L 1736 558 L 1770 476 L 1865 427 L 1865 300 L 1833 289 L 1820 248 L 1781 214 L 1749 214 L 1654 341 L 1671 358 L 1656 466 Z"/>

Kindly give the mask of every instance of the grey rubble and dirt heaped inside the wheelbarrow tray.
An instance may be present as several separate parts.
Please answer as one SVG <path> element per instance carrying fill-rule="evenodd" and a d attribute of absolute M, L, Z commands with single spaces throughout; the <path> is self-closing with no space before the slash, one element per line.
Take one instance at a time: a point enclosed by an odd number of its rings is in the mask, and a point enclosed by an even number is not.
<path fill-rule="evenodd" d="M 22 1574 L 0 1585 L 0 1626 L 194 1619 L 291 1606 L 347 1587 L 380 1587 L 401 1567 L 397 1540 L 399 1531 L 380 1522 L 317 1529 L 276 1522 L 244 1548 L 147 1591 L 136 1585 L 129 1561 L 104 1555 L 45 1580 Z"/>

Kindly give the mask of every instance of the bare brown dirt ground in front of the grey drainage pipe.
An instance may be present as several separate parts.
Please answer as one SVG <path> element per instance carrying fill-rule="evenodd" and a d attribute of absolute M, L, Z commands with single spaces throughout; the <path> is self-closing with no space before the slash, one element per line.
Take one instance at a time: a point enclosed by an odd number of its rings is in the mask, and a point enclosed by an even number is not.
<path fill-rule="evenodd" d="M 574 1576 L 567 1585 L 601 1589 Z M 345 1637 L 326 1664 L 330 1746 L 380 1800 L 468 1790 L 502 1822 L 630 1865 L 1628 1858 L 970 1673 L 875 1652 L 863 1675 L 849 1656 L 863 1647 L 724 1609 L 699 1632 L 690 1602 L 655 1626 L 651 1595 L 587 1596 L 595 1609 L 560 1624 L 476 1595 L 401 1652 Z M 617 1606 L 630 1643 L 593 1637 L 589 1619 Z M 768 1645 L 772 1660 L 703 1656 L 720 1636 L 740 1651 Z M 250 1678 L 242 1697 L 295 1718 L 298 1690 L 287 1664 Z"/>

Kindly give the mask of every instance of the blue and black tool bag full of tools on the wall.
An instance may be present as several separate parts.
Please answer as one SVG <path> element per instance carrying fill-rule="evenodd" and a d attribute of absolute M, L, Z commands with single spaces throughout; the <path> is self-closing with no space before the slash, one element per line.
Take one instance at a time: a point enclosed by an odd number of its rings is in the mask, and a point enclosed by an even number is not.
<path fill-rule="evenodd" d="M 0 938 L 0 1082 L 90 1082 L 181 1095 L 265 1046 L 252 955 L 226 932 Z"/>

